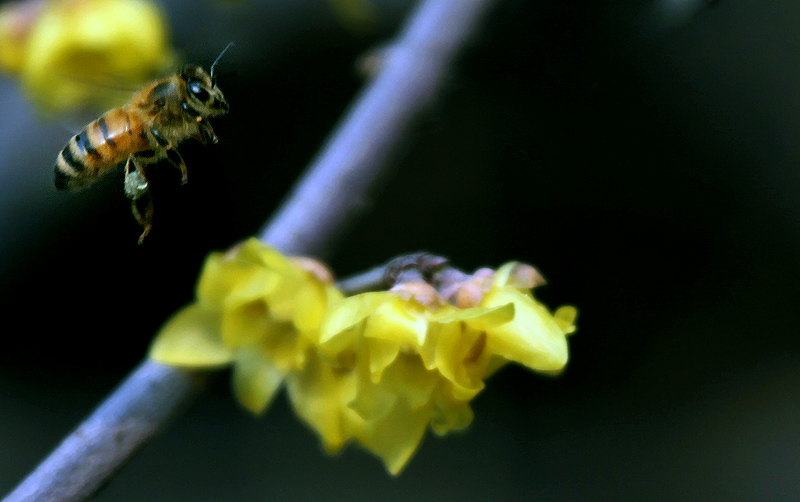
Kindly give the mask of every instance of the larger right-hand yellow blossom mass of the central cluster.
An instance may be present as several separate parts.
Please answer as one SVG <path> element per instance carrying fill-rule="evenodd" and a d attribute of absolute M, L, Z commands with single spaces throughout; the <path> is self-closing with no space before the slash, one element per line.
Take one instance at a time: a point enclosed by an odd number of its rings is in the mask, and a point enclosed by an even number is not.
<path fill-rule="evenodd" d="M 501 267 L 480 305 L 460 309 L 392 293 L 332 305 L 316 340 L 318 359 L 287 376 L 298 413 L 329 451 L 354 440 L 397 474 L 425 430 L 467 427 L 469 401 L 508 361 L 563 369 L 577 311 L 551 314 Z M 420 288 L 411 288 L 419 291 Z"/>

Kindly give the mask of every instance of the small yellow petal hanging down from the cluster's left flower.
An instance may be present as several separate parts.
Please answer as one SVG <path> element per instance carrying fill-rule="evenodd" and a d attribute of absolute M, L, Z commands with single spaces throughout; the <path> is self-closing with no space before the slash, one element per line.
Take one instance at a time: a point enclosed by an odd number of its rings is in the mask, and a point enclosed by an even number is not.
<path fill-rule="evenodd" d="M 233 392 L 236 399 L 255 414 L 267 409 L 283 383 L 282 372 L 263 351 L 254 348 L 236 352 Z"/>

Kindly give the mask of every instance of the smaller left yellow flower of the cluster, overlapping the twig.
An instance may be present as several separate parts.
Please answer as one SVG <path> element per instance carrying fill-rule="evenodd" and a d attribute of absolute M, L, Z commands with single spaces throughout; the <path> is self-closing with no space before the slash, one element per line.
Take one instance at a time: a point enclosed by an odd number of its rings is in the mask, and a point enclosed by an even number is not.
<path fill-rule="evenodd" d="M 237 398 L 261 413 L 286 374 L 306 365 L 328 304 L 340 298 L 333 286 L 250 239 L 231 256 L 208 257 L 197 301 L 164 325 L 150 357 L 184 367 L 233 364 Z"/>

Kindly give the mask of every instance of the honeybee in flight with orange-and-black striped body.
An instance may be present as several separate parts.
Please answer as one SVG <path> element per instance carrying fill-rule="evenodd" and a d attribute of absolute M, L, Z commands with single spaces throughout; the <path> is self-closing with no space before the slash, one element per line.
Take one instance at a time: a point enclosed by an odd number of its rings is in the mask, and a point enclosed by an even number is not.
<path fill-rule="evenodd" d="M 128 103 L 107 111 L 73 136 L 56 159 L 56 188 L 80 190 L 125 162 L 125 194 L 143 227 L 141 244 L 153 226 L 148 169 L 167 161 L 181 171 L 181 180 L 186 183 L 186 164 L 176 150 L 178 144 L 188 138 L 204 144 L 219 142 L 208 119 L 228 112 L 214 68 L 230 46 L 217 57 L 209 73 L 200 66 L 186 65 L 176 75 L 146 84 Z M 141 210 L 137 201 L 145 196 Z"/>

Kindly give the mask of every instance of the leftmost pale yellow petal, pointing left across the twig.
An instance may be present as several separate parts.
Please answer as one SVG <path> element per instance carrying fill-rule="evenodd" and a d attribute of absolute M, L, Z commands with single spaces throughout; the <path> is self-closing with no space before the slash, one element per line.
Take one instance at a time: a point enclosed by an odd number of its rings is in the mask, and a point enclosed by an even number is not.
<path fill-rule="evenodd" d="M 222 343 L 219 314 L 192 304 L 161 328 L 150 346 L 150 358 L 173 366 L 223 366 L 233 361 Z"/>

